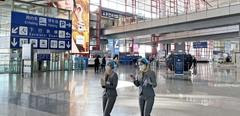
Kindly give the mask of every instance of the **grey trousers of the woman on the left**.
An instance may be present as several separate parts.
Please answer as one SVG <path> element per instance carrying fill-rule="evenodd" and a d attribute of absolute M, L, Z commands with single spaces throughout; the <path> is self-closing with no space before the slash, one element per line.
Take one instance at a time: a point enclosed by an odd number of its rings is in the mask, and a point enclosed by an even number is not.
<path fill-rule="evenodd" d="M 103 116 L 111 116 L 113 106 L 117 97 L 103 96 Z"/>

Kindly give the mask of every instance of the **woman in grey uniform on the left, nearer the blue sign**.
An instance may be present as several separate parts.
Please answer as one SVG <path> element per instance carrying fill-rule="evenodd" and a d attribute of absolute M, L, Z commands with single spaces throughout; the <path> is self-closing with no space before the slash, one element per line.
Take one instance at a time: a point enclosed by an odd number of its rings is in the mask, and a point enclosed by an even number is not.
<path fill-rule="evenodd" d="M 110 116 L 117 98 L 118 75 L 113 71 L 114 65 L 114 61 L 108 62 L 104 77 L 101 78 L 101 85 L 104 88 L 103 116 Z"/>

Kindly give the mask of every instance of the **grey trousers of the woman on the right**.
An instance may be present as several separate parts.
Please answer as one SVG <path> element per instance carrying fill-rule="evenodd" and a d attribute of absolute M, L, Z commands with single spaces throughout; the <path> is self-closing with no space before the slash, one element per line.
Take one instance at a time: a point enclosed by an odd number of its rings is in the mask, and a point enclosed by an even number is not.
<path fill-rule="evenodd" d="M 154 104 L 154 96 L 151 97 L 139 97 L 139 105 L 141 110 L 141 116 L 150 116 L 152 107 Z"/>

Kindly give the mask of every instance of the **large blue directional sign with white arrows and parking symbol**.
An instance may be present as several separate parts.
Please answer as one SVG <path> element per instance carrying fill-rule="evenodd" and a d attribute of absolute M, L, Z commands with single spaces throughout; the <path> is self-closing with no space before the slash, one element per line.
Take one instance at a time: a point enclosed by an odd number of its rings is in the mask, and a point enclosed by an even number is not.
<path fill-rule="evenodd" d="M 71 20 L 12 12 L 11 48 L 32 43 L 35 49 L 70 50 Z"/>

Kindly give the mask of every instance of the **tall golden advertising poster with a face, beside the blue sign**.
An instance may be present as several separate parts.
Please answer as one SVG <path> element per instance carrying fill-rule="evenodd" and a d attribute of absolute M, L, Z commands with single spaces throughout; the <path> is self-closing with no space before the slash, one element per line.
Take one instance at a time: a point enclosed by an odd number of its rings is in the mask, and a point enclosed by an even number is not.
<path fill-rule="evenodd" d="M 89 0 L 55 2 L 57 8 L 72 11 L 72 53 L 89 53 Z"/>

